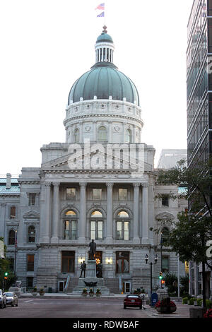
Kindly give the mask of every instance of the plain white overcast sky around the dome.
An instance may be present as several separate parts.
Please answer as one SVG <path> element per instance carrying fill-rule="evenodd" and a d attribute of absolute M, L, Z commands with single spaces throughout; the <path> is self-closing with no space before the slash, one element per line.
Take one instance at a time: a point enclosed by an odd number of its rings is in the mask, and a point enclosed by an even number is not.
<path fill-rule="evenodd" d="M 103 2 L 103 0 L 102 0 Z M 187 148 L 187 23 L 193 0 L 0 0 L 0 176 L 40 167 L 65 142 L 71 86 L 95 63 L 106 23 L 114 64 L 139 91 L 142 143 Z"/>

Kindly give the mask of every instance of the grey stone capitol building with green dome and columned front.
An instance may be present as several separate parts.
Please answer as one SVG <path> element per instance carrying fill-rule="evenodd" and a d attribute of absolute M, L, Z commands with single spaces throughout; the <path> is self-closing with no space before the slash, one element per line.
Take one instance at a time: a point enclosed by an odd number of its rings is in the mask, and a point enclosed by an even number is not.
<path fill-rule="evenodd" d="M 95 42 L 95 64 L 69 92 L 66 142 L 43 145 L 40 167 L 0 179 L 0 237 L 27 289 L 73 292 L 92 239 L 110 293 L 150 290 L 151 262 L 153 287 L 160 271 L 185 274 L 161 237 L 170 230 L 165 220 L 176 220 L 187 202 L 168 198 L 177 186 L 156 183 L 155 149 L 142 141 L 139 93 L 114 64 L 106 29 Z"/>

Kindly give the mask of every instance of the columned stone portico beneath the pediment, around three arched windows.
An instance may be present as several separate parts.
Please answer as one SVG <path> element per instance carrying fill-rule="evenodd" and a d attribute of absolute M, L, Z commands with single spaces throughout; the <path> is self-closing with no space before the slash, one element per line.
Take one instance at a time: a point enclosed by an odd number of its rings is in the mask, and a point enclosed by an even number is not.
<path fill-rule="evenodd" d="M 138 181 L 138 180 L 136 180 Z M 98 186 L 101 196 L 93 201 L 93 189 Z M 126 200 L 119 194 L 119 189 L 126 191 Z M 76 194 L 72 200 L 66 199 L 66 189 L 75 188 Z M 87 182 L 76 179 L 53 179 L 45 181 L 42 186 L 45 191 L 45 227 L 40 229 L 41 243 L 61 243 L 63 238 L 63 225 L 61 220 L 61 211 L 66 208 L 76 208 L 78 213 L 77 223 L 77 241 L 79 244 L 85 244 L 90 238 L 90 225 L 88 210 L 105 211 L 104 229 L 100 242 L 112 244 L 119 242 L 117 238 L 117 211 L 130 211 L 129 219 L 129 242 L 134 244 L 148 244 L 148 182 L 121 182 L 117 179 L 102 182 L 95 180 Z M 43 193 L 41 194 L 42 198 Z M 129 199 L 130 198 L 130 199 Z M 123 200 L 122 200 L 123 199 Z M 139 206 L 142 206 L 140 209 Z M 141 211 L 141 215 L 139 215 Z M 126 230 L 125 230 L 126 232 Z M 141 234 L 141 236 L 140 236 Z M 69 240 L 71 244 L 71 239 Z"/>

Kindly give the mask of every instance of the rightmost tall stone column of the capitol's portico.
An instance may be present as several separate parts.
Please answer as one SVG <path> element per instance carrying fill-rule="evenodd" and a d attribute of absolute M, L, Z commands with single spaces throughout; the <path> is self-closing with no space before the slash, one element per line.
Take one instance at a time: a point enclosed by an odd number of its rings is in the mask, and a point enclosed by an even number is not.
<path fill-rule="evenodd" d="M 148 244 L 148 182 L 142 183 L 142 244 Z"/>

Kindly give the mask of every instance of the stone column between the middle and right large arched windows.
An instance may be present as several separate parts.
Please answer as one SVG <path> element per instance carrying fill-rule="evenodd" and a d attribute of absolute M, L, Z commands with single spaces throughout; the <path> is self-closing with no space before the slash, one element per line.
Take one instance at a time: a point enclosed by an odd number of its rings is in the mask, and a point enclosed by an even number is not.
<path fill-rule="evenodd" d="M 106 183 L 107 186 L 107 221 L 106 221 L 106 242 L 112 243 L 112 187 L 113 183 Z"/>

